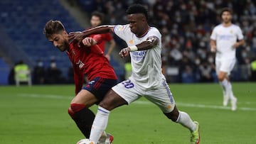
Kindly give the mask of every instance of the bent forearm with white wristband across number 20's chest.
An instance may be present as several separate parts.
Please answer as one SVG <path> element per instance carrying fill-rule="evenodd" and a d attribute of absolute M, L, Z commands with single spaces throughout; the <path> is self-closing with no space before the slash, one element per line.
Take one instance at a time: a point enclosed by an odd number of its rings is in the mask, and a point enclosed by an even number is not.
<path fill-rule="evenodd" d="M 120 57 L 126 57 L 129 55 L 129 52 L 132 51 L 138 51 L 138 50 L 149 50 L 151 48 L 154 48 L 159 43 L 159 38 L 156 36 L 150 36 L 149 38 L 146 38 L 145 41 L 142 43 L 139 43 L 137 45 L 132 45 L 127 48 L 123 48 L 120 52 L 119 55 Z"/>

